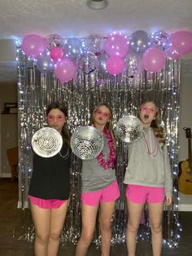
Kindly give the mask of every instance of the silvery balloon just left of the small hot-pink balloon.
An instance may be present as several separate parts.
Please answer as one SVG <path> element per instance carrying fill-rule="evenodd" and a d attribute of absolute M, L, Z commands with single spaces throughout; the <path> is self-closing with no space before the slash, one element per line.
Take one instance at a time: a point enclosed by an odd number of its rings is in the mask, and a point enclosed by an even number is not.
<path fill-rule="evenodd" d="M 37 59 L 37 68 L 41 73 L 50 73 L 55 68 L 55 62 L 50 59 L 50 52 L 44 51 Z"/>

